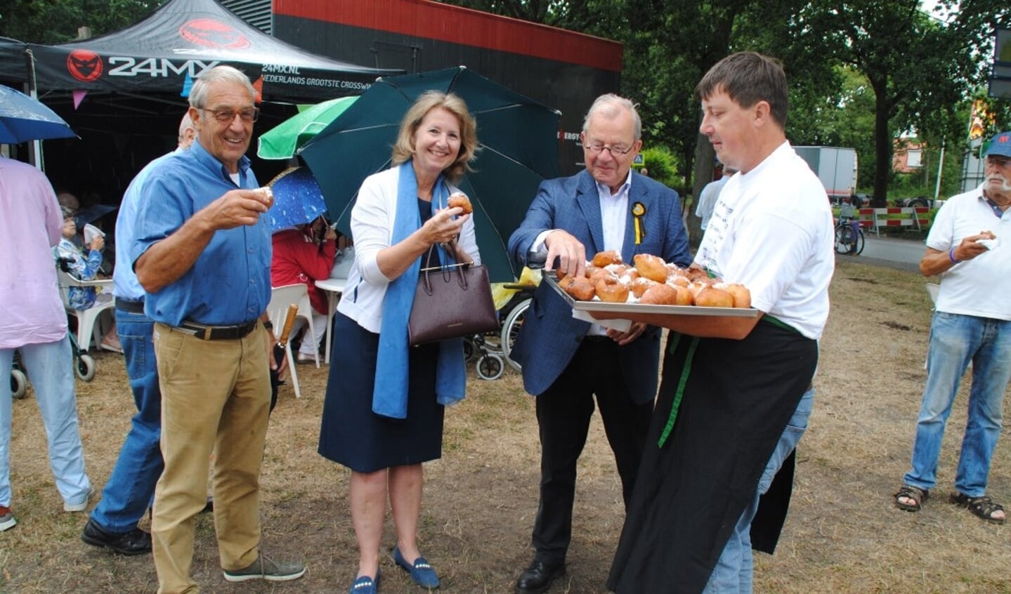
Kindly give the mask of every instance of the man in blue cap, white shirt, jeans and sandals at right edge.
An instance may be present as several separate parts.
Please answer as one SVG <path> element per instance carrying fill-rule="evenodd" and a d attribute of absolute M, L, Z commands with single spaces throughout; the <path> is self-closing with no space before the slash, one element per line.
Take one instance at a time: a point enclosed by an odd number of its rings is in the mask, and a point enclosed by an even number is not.
<path fill-rule="evenodd" d="M 1011 379 L 1011 131 L 987 150 L 986 181 L 951 197 L 937 211 L 924 276 L 940 275 L 930 322 L 927 383 L 916 421 L 912 468 L 895 494 L 906 511 L 919 511 L 937 484 L 937 458 L 951 403 L 969 364 L 969 422 L 958 456 L 955 491 L 948 500 L 978 517 L 1003 524 L 1004 507 L 987 495 L 990 461 L 1001 433 L 1004 393 Z"/>

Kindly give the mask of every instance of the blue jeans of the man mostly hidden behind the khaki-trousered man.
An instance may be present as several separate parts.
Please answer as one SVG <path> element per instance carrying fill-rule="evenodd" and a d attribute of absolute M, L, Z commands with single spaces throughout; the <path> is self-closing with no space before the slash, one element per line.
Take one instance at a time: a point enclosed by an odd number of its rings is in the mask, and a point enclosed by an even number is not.
<path fill-rule="evenodd" d="M 116 334 L 126 359 L 126 374 L 136 414 L 112 475 L 102 491 L 102 500 L 91 519 L 109 532 L 127 532 L 136 527 L 155 494 L 164 463 L 159 440 L 162 436 L 162 391 L 158 386 L 155 322 L 143 313 L 116 308 Z"/>

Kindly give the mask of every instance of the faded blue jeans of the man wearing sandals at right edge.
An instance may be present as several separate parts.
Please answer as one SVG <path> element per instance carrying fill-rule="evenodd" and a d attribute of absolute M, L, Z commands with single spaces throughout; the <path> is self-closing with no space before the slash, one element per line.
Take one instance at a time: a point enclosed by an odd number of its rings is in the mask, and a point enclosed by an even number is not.
<path fill-rule="evenodd" d="M 930 489 L 937 484 L 944 425 L 958 384 L 973 362 L 969 392 L 969 421 L 954 487 L 970 497 L 987 493 L 990 460 L 1001 434 L 1004 392 L 1011 379 L 1011 321 L 934 312 L 927 354 L 927 383 L 916 421 L 912 468 L 907 485 Z"/>

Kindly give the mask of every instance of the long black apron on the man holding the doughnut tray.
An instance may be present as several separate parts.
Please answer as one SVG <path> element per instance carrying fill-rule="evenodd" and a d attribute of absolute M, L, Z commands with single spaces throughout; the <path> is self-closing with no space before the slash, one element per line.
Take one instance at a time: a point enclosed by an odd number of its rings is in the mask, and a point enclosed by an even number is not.
<path fill-rule="evenodd" d="M 768 316 L 742 340 L 670 333 L 609 588 L 703 591 L 817 362 L 815 340 Z M 784 468 L 792 479 L 792 460 Z M 777 480 L 768 493 L 775 504 L 759 505 L 764 517 L 753 526 L 772 531 L 755 540 L 765 550 L 778 537 L 790 484 L 784 492 Z"/>

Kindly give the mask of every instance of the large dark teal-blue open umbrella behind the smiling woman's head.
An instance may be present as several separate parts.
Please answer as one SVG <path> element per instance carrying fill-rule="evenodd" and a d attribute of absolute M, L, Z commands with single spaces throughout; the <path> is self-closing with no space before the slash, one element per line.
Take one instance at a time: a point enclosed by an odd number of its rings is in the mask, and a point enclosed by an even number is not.
<path fill-rule="evenodd" d="M 463 67 L 383 77 L 298 152 L 312 169 L 331 218 L 351 231 L 351 208 L 369 175 L 386 169 L 400 119 L 415 99 L 435 89 L 452 92 L 477 120 L 480 150 L 458 186 L 474 206 L 481 262 L 492 282 L 520 271 L 505 242 L 520 226 L 538 185 L 558 175 L 560 114 Z"/>

